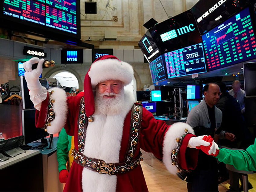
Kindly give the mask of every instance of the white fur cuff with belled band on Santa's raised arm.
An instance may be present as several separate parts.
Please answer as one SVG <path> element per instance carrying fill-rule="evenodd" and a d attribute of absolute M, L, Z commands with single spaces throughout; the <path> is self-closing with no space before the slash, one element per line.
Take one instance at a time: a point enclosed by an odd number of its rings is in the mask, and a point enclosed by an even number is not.
<path fill-rule="evenodd" d="M 42 127 L 48 133 L 58 133 L 66 123 L 66 93 L 63 89 L 53 88 L 49 92 L 46 123 Z"/>

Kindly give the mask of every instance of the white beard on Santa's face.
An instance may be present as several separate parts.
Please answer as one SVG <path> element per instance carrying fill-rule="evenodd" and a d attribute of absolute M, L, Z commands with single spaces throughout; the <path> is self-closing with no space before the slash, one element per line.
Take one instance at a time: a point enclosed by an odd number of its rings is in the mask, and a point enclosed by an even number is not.
<path fill-rule="evenodd" d="M 104 98 L 104 95 L 115 95 L 114 98 Z M 119 114 L 124 105 L 124 89 L 121 89 L 119 94 L 111 93 L 98 93 L 95 95 L 95 111 L 99 111 L 104 115 Z"/>

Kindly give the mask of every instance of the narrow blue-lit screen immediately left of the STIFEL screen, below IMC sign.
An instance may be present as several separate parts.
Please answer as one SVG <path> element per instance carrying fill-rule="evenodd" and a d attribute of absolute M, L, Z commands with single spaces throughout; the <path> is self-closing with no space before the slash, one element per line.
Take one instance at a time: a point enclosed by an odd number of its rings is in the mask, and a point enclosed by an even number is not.
<path fill-rule="evenodd" d="M 162 55 L 149 63 L 149 69 L 153 84 L 166 79 L 165 62 Z"/>

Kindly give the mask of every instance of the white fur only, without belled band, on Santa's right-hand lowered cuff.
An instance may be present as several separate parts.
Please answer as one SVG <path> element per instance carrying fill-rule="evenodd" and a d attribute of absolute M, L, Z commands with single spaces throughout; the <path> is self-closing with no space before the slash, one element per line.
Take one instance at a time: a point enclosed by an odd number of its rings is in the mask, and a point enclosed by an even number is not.
<path fill-rule="evenodd" d="M 192 127 L 182 122 L 172 124 L 169 127 L 168 131 L 165 133 L 163 147 L 163 163 L 171 174 L 176 174 L 178 172 L 178 168 L 175 165 L 171 164 L 171 152 L 177 147 L 176 138 L 184 135 L 186 133 L 185 129 L 188 130 L 188 133 L 194 134 L 194 130 L 192 129 Z"/>

